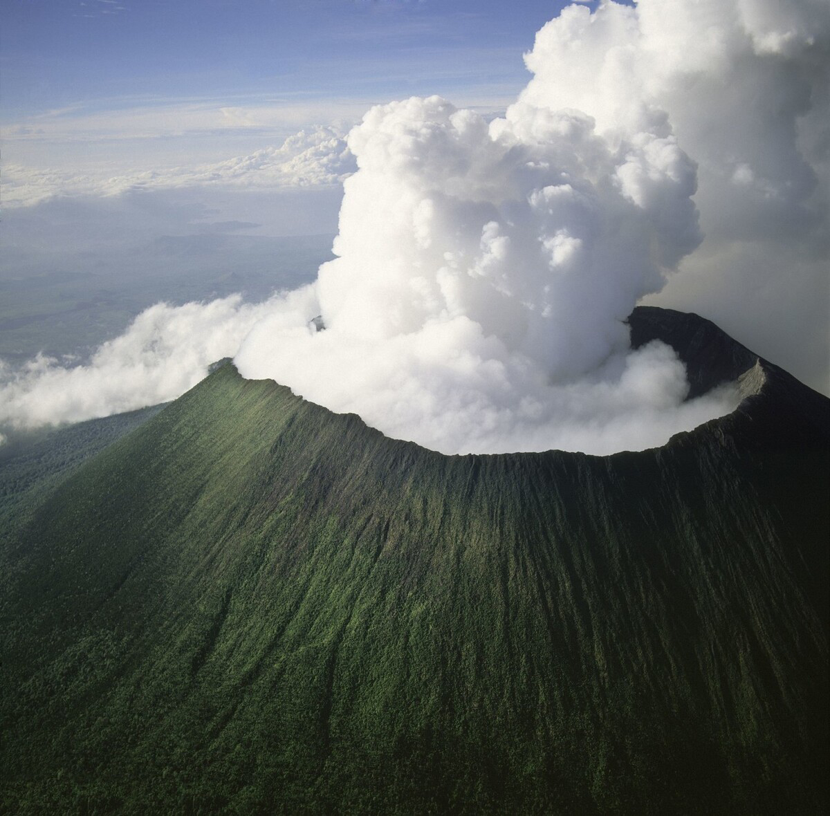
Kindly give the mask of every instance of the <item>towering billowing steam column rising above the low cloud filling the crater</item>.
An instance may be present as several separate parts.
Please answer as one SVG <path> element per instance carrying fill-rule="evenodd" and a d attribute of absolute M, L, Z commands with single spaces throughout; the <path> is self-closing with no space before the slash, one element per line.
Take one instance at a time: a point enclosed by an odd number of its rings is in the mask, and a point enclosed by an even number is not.
<path fill-rule="evenodd" d="M 671 139 L 652 157 L 648 134 L 615 155 L 574 112 L 530 127 L 438 97 L 366 115 L 349 137 L 360 169 L 340 257 L 318 281 L 331 332 L 376 343 L 467 318 L 550 379 L 625 348 L 633 303 L 698 240 L 694 167 Z"/>

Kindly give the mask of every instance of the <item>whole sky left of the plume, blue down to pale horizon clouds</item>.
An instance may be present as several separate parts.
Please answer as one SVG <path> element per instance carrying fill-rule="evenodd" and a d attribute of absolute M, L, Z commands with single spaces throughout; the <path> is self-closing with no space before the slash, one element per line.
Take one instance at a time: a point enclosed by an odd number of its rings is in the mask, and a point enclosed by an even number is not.
<path fill-rule="evenodd" d="M 7 161 L 218 159 L 438 93 L 497 109 L 561 0 L 5 0 Z M 156 144 L 135 142 L 154 139 Z"/>

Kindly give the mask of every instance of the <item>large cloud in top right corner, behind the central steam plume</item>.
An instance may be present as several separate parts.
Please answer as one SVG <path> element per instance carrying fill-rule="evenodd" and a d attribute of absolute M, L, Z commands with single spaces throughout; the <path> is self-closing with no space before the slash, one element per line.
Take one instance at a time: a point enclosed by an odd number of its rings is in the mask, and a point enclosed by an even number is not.
<path fill-rule="evenodd" d="M 798 129 L 827 81 L 828 36 L 823 0 L 569 7 L 537 34 L 535 77 L 508 117 L 586 110 L 609 139 L 671 128 L 698 165 L 707 238 L 778 236 L 810 217 L 817 177 Z"/>

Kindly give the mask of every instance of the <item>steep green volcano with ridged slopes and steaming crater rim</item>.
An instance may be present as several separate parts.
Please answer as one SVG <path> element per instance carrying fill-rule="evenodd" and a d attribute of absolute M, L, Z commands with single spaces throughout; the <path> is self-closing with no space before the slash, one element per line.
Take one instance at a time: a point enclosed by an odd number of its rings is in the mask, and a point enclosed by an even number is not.
<path fill-rule="evenodd" d="M 443 456 L 232 364 L 2 546 L 9 813 L 818 813 L 830 400 L 638 307 L 666 445 Z"/>

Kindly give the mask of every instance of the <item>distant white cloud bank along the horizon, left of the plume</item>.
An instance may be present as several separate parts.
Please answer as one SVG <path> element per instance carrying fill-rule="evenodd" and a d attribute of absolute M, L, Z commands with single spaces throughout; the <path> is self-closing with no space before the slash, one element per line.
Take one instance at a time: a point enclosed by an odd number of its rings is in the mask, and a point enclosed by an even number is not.
<path fill-rule="evenodd" d="M 172 188 L 278 189 L 342 183 L 354 173 L 345 135 L 332 127 L 300 130 L 270 147 L 217 164 L 128 173 L 75 173 L 10 164 L 3 169 L 3 203 L 31 206 L 57 196 L 113 196 Z"/>

